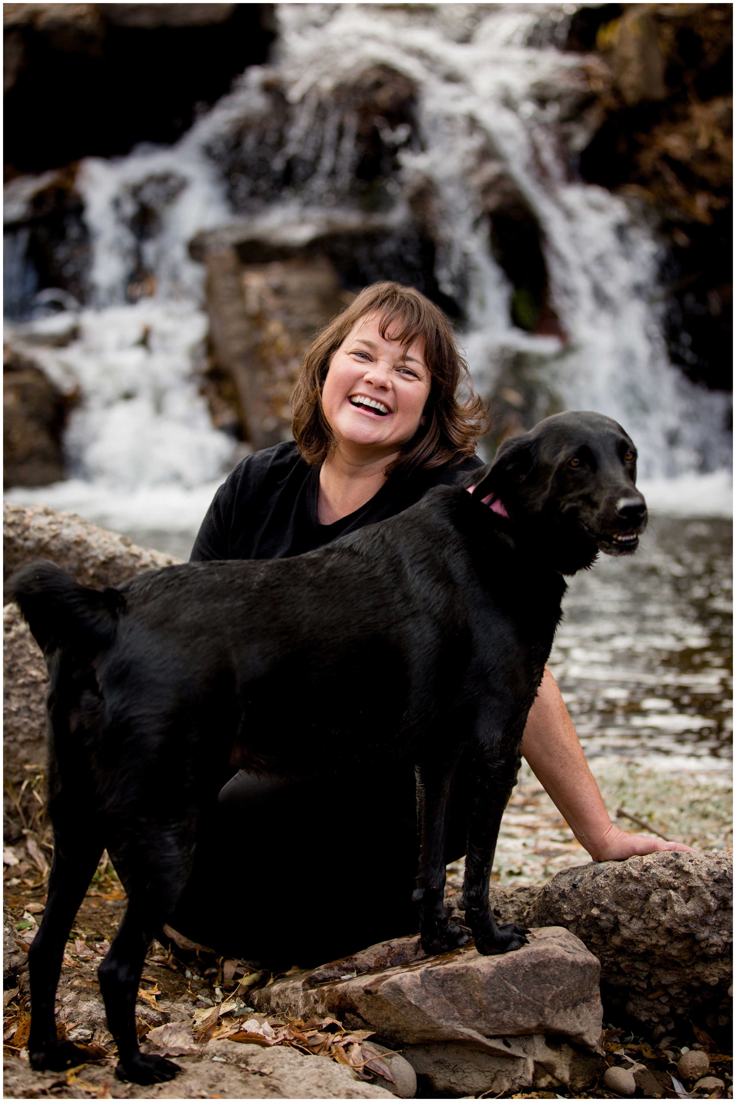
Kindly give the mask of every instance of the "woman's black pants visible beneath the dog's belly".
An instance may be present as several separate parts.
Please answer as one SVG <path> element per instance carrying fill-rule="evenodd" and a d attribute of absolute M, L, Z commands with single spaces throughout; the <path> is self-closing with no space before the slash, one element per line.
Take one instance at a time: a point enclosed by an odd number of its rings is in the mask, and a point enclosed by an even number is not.
<path fill-rule="evenodd" d="M 219 793 L 171 918 L 218 952 L 272 969 L 322 964 L 419 930 L 413 768 L 284 780 L 241 770 Z M 465 852 L 451 800 L 447 863 Z"/>

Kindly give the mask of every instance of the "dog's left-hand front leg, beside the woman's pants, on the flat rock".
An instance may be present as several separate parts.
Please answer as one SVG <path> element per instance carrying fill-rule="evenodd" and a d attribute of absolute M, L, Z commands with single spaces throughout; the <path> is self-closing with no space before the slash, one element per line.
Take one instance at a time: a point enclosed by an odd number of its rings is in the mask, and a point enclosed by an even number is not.
<path fill-rule="evenodd" d="M 469 940 L 463 926 L 448 923 L 445 915 L 445 811 L 450 774 L 435 766 L 416 767 L 419 873 L 412 899 L 419 906 L 420 937 L 425 953 L 444 953 Z"/>

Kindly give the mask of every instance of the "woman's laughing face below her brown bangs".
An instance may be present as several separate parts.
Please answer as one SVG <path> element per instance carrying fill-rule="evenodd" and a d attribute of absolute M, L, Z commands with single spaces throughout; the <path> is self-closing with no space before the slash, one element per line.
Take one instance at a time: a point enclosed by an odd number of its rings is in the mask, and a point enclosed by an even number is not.
<path fill-rule="evenodd" d="M 388 456 L 416 432 L 432 380 L 424 337 L 407 347 L 390 334 L 382 337 L 379 323 L 377 314 L 361 317 L 337 348 L 322 406 L 338 447 L 351 444 Z"/>

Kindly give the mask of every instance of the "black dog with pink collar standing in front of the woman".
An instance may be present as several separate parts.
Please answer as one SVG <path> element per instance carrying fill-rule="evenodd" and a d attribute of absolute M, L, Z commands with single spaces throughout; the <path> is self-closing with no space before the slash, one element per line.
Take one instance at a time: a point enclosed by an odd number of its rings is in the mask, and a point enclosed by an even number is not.
<path fill-rule="evenodd" d="M 51 676 L 55 846 L 30 951 L 33 1067 L 82 1059 L 56 1039 L 54 997 L 107 847 L 129 900 L 99 969 L 118 1070 L 138 1083 L 175 1074 L 139 1051 L 136 996 L 228 763 L 324 777 L 360 759 L 409 757 L 424 950 L 455 948 L 470 931 L 481 953 L 524 944 L 528 931 L 497 926 L 489 908 L 498 828 L 560 619 L 562 574 L 599 550 L 636 549 L 647 510 L 635 478 L 618 424 L 561 413 L 506 441 L 472 494 L 435 488 L 295 559 L 170 566 L 104 592 L 50 563 L 21 570 L 13 592 Z M 461 754 L 473 759 L 461 905 L 469 931 L 448 925 L 443 907 L 445 802 Z"/>

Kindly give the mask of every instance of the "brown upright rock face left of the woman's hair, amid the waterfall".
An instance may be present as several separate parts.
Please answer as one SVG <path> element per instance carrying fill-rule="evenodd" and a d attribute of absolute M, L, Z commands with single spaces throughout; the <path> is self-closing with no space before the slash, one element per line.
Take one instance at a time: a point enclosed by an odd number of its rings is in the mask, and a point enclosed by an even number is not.
<path fill-rule="evenodd" d="M 324 256 L 241 264 L 224 246 L 206 262 L 217 366 L 232 380 L 246 437 L 269 447 L 291 435 L 289 402 L 310 341 L 349 296 Z"/>

